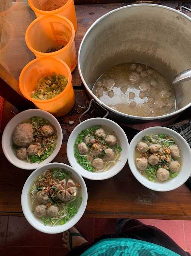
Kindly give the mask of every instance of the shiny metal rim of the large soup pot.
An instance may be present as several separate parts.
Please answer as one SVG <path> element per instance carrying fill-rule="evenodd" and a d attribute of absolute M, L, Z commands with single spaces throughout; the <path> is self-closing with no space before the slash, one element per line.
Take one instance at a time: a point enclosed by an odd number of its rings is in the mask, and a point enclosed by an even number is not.
<path fill-rule="evenodd" d="M 86 84 L 84 78 L 83 78 L 83 75 L 82 75 L 82 72 L 81 72 L 81 67 L 80 67 L 80 63 L 79 63 L 79 55 L 81 53 L 81 48 L 82 48 L 82 44 L 84 43 L 84 40 L 85 38 L 87 37 L 88 33 L 93 29 L 93 27 L 98 23 L 100 22 L 102 19 L 106 18 L 107 16 L 109 16 L 111 13 L 113 12 L 117 12 L 118 10 L 121 10 L 121 9 L 125 9 L 125 8 L 132 8 L 132 7 L 137 7 L 137 6 L 153 6 L 153 7 L 158 7 L 158 8 L 163 8 L 163 9 L 168 9 L 168 10 L 171 10 L 173 12 L 176 12 L 178 13 L 179 15 L 182 15 L 184 16 L 184 18 L 188 19 L 189 21 L 191 21 L 191 18 L 187 15 L 185 15 L 184 13 L 180 12 L 179 10 L 176 10 L 176 9 L 173 9 L 171 7 L 167 7 L 167 6 L 161 6 L 161 5 L 158 5 L 158 4 L 130 4 L 128 6 L 122 6 L 122 7 L 119 7 L 117 9 L 114 9 L 114 10 L 111 10 L 110 12 L 107 12 L 106 14 L 104 14 L 103 16 L 101 16 L 100 18 L 98 18 L 87 30 L 87 32 L 85 33 L 84 37 L 82 38 L 82 41 L 80 43 L 80 46 L 79 46 L 79 50 L 78 50 L 78 70 L 79 70 L 79 75 L 82 79 L 82 82 L 85 86 L 85 89 L 88 91 L 88 93 L 90 93 L 90 95 L 96 100 L 96 102 L 100 105 L 100 106 L 103 106 L 104 108 L 108 109 L 109 111 L 111 112 L 114 112 L 115 114 L 118 114 L 118 115 L 122 115 L 123 117 L 127 117 L 127 118 L 132 118 L 132 119 L 136 119 L 136 120 L 157 120 L 157 119 L 163 119 L 163 118 L 170 118 L 176 114 L 179 114 L 181 112 L 183 112 L 185 109 L 189 108 L 191 106 L 191 102 L 189 104 L 187 104 L 186 106 L 184 106 L 183 108 L 181 109 L 178 109 L 172 113 L 169 113 L 169 114 L 166 114 L 166 115 L 160 115 L 160 116 L 157 116 L 157 117 L 138 117 L 136 115 L 129 115 L 129 114 L 125 114 L 125 113 L 122 113 L 122 112 L 119 112 L 119 111 L 116 111 L 115 109 L 113 108 L 110 108 L 109 106 L 107 106 L 106 104 L 104 104 L 101 100 L 99 100 L 95 94 L 90 90 L 90 88 L 88 87 L 88 85 Z"/>

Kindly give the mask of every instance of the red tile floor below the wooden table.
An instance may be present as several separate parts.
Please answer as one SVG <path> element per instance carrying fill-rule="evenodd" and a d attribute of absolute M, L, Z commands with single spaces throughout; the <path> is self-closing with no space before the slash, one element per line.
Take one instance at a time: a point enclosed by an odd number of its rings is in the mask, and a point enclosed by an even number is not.
<path fill-rule="evenodd" d="M 113 234 L 115 219 L 82 218 L 76 227 L 92 242 L 103 234 Z M 169 235 L 182 249 L 191 253 L 191 221 L 141 220 Z M 0 216 L 0 256 L 64 256 L 62 234 L 43 234 L 29 225 L 24 217 Z"/>

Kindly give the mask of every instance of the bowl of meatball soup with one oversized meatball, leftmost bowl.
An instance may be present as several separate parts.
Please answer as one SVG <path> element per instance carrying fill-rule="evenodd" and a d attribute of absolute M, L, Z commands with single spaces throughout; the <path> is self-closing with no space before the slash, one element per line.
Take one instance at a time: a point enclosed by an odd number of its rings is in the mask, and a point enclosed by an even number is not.
<path fill-rule="evenodd" d="M 54 159 L 62 136 L 62 128 L 52 114 L 28 109 L 15 115 L 5 127 L 3 153 L 16 167 L 33 170 Z"/>

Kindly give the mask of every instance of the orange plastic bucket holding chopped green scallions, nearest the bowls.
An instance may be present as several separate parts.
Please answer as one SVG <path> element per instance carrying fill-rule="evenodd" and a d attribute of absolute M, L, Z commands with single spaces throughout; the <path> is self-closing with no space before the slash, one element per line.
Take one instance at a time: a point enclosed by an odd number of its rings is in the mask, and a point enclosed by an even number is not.
<path fill-rule="evenodd" d="M 49 100 L 31 98 L 39 78 L 58 73 L 68 78 L 66 88 L 56 97 Z M 56 117 L 67 114 L 75 103 L 75 94 L 72 87 L 72 75 L 69 67 L 62 60 L 52 57 L 41 57 L 30 61 L 21 71 L 19 88 L 26 99 L 31 100 L 37 108 L 50 112 Z"/>

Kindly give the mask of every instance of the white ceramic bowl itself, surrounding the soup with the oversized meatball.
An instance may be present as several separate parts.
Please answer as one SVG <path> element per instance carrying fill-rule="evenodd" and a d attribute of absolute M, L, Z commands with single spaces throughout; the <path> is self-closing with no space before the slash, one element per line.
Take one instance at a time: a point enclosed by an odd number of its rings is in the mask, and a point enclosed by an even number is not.
<path fill-rule="evenodd" d="M 49 156 L 47 159 L 45 159 L 41 163 L 27 163 L 26 161 L 22 161 L 16 157 L 16 154 L 12 148 L 13 144 L 13 132 L 15 128 L 20 124 L 21 122 L 31 118 L 31 117 L 43 117 L 47 119 L 56 129 L 57 132 L 57 144 L 56 148 Z M 58 154 L 60 147 L 62 145 L 62 128 L 57 121 L 57 119 L 50 113 L 40 110 L 40 109 L 28 109 L 25 110 L 13 117 L 9 123 L 6 125 L 4 131 L 3 131 L 3 136 L 2 136 L 2 148 L 3 148 L 3 153 L 6 156 L 7 160 L 9 160 L 10 163 L 15 165 L 18 168 L 21 169 L 26 169 L 26 170 L 34 170 L 37 169 L 40 166 L 45 165 L 46 163 L 50 163 L 54 157 Z"/>

